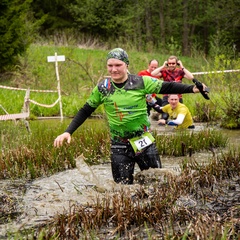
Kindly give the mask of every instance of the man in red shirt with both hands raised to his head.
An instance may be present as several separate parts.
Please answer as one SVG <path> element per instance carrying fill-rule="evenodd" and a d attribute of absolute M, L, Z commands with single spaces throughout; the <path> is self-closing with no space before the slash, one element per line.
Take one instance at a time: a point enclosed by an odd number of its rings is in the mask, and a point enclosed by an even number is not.
<path fill-rule="evenodd" d="M 176 56 L 170 56 L 161 67 L 156 68 L 151 72 L 151 75 L 156 78 L 163 78 L 166 82 L 182 83 L 183 78 L 192 80 L 194 77 L 182 64 Z M 179 94 L 179 102 L 183 103 L 182 95 Z M 164 94 L 162 99 L 162 106 L 168 104 L 168 95 Z M 168 115 L 163 114 L 162 118 L 167 120 Z"/>

